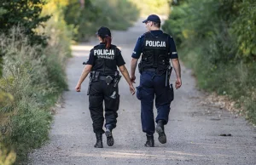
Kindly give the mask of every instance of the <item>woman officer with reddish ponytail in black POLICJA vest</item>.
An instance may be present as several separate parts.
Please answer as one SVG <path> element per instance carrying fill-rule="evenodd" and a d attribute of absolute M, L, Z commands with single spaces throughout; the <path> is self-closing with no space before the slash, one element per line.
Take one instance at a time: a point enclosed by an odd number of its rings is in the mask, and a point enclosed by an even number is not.
<path fill-rule="evenodd" d="M 80 92 L 81 83 L 90 73 L 89 94 L 89 109 L 90 116 L 93 122 L 93 131 L 96 134 L 96 148 L 102 148 L 102 134 L 107 136 L 107 145 L 113 145 L 112 130 L 116 127 L 118 109 L 119 109 L 119 71 L 125 77 L 129 84 L 131 94 L 135 94 L 129 73 L 125 68 L 125 60 L 122 57 L 121 51 L 115 45 L 111 44 L 111 32 L 107 27 L 101 27 L 96 33 L 100 44 L 90 50 L 90 57 L 84 67 L 84 71 L 76 86 L 76 91 Z M 119 67 L 119 71 L 117 70 Z M 102 129 L 103 103 L 105 104 L 105 128 Z"/>

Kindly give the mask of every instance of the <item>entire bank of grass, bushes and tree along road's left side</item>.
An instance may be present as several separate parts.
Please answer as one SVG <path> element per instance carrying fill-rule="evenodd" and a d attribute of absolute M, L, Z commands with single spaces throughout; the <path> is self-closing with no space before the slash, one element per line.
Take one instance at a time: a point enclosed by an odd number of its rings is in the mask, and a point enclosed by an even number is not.
<path fill-rule="evenodd" d="M 1 19 L 2 15 L 11 14 L 10 6 L 14 3 L 22 3 L 25 5 L 22 9 L 27 9 L 13 12 L 7 19 L 9 22 L 5 25 L 14 27 L 11 31 L 4 29 L 1 22 L 0 53 L 5 55 L 2 58 L 3 77 L 0 77 L 0 143 L 14 149 L 19 163 L 26 159 L 28 152 L 48 139 L 50 107 L 67 89 L 65 64 L 71 56 L 72 26 L 67 26 L 64 20 L 63 9 L 67 1 L 4 3 L 9 9 L 0 8 Z M 15 24 L 19 19 L 20 24 Z M 39 26 L 41 24 L 43 26 Z M 38 38 L 44 42 L 35 42 Z"/>

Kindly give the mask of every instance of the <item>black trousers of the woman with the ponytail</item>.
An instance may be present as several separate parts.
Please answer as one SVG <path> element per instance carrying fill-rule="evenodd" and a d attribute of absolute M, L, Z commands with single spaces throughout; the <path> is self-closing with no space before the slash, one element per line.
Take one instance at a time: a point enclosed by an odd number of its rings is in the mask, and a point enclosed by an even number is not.
<path fill-rule="evenodd" d="M 89 92 L 89 109 L 93 122 L 93 131 L 96 134 L 104 134 L 102 129 L 104 123 L 103 100 L 105 104 L 105 127 L 108 125 L 108 127 L 113 129 L 116 127 L 116 119 L 118 117 L 119 88 L 114 88 L 113 83 L 108 85 L 103 80 L 92 82 Z"/>

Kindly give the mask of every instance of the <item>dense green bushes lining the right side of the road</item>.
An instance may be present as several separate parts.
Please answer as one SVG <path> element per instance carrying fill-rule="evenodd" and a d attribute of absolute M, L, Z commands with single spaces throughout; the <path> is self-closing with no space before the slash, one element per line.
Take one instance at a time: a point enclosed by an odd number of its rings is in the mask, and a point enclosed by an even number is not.
<path fill-rule="evenodd" d="M 256 122 L 252 108 L 256 2 L 183 0 L 173 4 L 163 29 L 172 34 L 181 58 L 195 70 L 199 87 L 228 94 Z"/>

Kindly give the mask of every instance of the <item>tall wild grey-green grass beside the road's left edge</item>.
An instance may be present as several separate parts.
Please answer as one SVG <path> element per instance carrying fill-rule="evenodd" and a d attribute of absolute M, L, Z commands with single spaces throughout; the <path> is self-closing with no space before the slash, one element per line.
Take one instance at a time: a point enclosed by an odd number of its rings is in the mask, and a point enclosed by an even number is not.
<path fill-rule="evenodd" d="M 69 51 L 61 43 L 32 47 L 19 29 L 12 33 L 0 37 L 5 52 L 0 87 L 13 96 L 13 101 L 1 103 L 0 143 L 14 149 L 20 163 L 48 139 L 50 109 L 67 89 L 64 66 Z"/>

